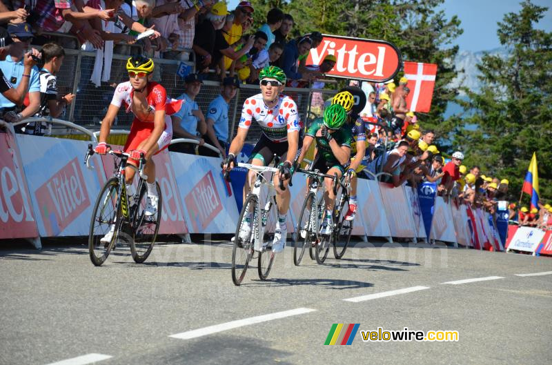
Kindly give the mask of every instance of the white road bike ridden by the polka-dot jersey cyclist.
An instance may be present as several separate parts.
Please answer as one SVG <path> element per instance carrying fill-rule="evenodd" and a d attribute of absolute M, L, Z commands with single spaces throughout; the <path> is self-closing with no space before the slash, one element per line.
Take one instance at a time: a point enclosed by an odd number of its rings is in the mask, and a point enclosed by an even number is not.
<path fill-rule="evenodd" d="M 257 175 L 255 183 L 250 193 L 248 193 L 239 219 L 234 236 L 232 250 L 232 281 L 236 286 L 242 284 L 246 275 L 249 262 L 258 253 L 257 271 L 261 280 L 266 280 L 270 269 L 273 266 L 275 253 L 272 250 L 272 239 L 266 233 L 273 233 L 275 221 L 278 219 L 278 206 L 276 202 L 276 187 L 273 183 L 273 177 L 279 170 L 276 168 L 279 157 L 274 155 L 274 164 L 270 166 L 256 166 L 252 164 L 237 164 L 237 167 L 252 170 Z M 265 177 L 268 172 L 269 177 Z M 229 180 L 230 175 L 224 172 L 224 177 Z M 263 189 L 265 187 L 265 189 Z M 283 181 L 280 181 L 279 188 L 284 188 Z M 266 194 L 266 198 L 263 196 Z M 242 228 L 244 224 L 250 225 L 250 231 L 244 235 Z M 242 233 L 242 237 L 240 237 Z M 265 240 L 265 235 L 267 240 Z"/>

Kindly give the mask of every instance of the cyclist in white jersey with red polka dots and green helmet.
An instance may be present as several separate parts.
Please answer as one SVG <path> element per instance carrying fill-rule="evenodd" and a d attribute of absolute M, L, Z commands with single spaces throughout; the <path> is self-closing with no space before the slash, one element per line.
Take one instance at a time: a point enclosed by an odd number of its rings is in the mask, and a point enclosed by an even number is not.
<path fill-rule="evenodd" d="M 242 150 L 249 127 L 255 119 L 262 129 L 262 136 L 251 152 L 250 164 L 268 166 L 275 154 L 284 161 L 279 165 L 279 174 L 274 179 L 274 185 L 277 186 L 278 220 L 272 247 L 274 252 L 281 252 L 286 245 L 286 215 L 291 195 L 288 188 L 283 191 L 279 189 L 278 180 L 284 181 L 284 186 L 287 186 L 293 174 L 292 166 L 299 148 L 301 127 L 297 104 L 282 94 L 286 83 L 284 71 L 275 66 L 267 66 L 259 72 L 259 81 L 261 93 L 249 97 L 244 102 L 242 119 L 239 121 L 236 137 L 230 144 L 223 167 L 229 171 L 235 166 L 236 155 Z M 244 199 L 254 180 L 255 172 L 250 171 L 244 186 Z M 246 217 L 239 237 L 248 237 L 250 230 L 250 217 Z"/>

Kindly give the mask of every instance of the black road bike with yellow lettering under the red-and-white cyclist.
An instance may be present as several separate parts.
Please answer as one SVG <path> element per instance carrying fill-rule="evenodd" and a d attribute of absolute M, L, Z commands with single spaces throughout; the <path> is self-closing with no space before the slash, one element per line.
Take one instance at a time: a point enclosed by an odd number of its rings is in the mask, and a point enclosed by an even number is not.
<path fill-rule="evenodd" d="M 90 168 L 89 159 L 94 155 L 92 144 L 88 145 L 88 152 L 84 163 Z M 113 156 L 115 169 L 113 177 L 106 181 L 101 188 L 96 204 L 92 210 L 90 219 L 90 233 L 88 234 L 88 251 L 90 260 L 95 266 L 100 266 L 108 258 L 111 250 L 122 245 L 124 241 L 130 244 L 130 253 L 135 262 L 141 264 L 146 261 L 151 253 L 159 224 L 161 222 L 161 189 L 157 186 L 157 213 L 147 216 L 146 200 L 148 188 L 146 186 L 147 175 L 144 174 L 146 158 L 141 153 L 139 166 L 127 164 L 130 154 L 120 150 L 110 150 L 109 155 Z M 136 193 L 131 197 L 127 196 L 125 185 L 125 169 L 134 168 L 138 172 L 138 186 Z M 102 242 L 109 232 L 112 237 L 108 242 Z"/>

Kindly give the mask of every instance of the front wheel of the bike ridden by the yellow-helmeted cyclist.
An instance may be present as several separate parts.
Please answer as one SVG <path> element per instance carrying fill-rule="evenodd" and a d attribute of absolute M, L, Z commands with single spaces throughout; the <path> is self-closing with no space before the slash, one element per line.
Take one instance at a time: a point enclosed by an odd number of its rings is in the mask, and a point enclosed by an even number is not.
<path fill-rule="evenodd" d="M 121 226 L 121 210 L 119 208 L 119 180 L 109 179 L 101 188 L 90 219 L 88 233 L 88 253 L 95 266 L 100 266 L 109 256 Z M 109 241 L 101 241 L 111 232 Z"/>

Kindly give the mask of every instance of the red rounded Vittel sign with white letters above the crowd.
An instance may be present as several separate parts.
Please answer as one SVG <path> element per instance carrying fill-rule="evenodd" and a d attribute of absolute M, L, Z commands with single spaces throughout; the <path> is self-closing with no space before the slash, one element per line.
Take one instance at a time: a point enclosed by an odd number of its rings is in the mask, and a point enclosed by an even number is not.
<path fill-rule="evenodd" d="M 319 65 L 327 55 L 336 63 L 326 75 L 383 82 L 393 79 L 401 66 L 399 50 L 386 41 L 324 34 L 318 48 L 311 49 L 307 65 Z"/>

